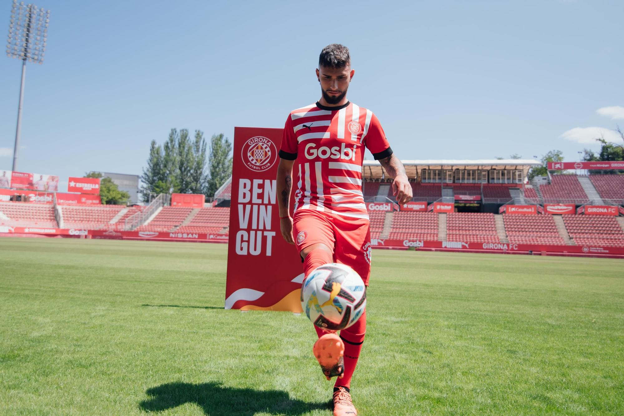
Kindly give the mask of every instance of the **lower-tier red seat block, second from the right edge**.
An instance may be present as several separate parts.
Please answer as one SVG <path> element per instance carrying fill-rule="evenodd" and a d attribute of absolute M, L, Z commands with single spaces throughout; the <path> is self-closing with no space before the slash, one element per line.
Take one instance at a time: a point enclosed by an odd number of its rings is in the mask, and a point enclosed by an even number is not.
<path fill-rule="evenodd" d="M 503 215 L 505 231 L 513 244 L 560 244 L 553 215 Z"/>

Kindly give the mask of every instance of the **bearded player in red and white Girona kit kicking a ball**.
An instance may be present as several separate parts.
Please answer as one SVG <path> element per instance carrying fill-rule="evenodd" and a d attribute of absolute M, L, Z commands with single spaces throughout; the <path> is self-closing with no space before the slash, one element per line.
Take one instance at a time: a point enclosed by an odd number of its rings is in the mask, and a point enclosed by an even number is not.
<path fill-rule="evenodd" d="M 399 204 L 411 201 L 412 188 L 377 117 L 347 100 L 354 72 L 349 49 L 343 45 L 331 44 L 321 51 L 316 69 L 321 99 L 291 111 L 286 119 L 276 190 L 281 234 L 296 245 L 306 277 L 320 265 L 338 262 L 352 267 L 368 287 L 371 237 L 362 194 L 364 148 L 394 178 L 392 190 Z M 299 167 L 291 218 L 289 199 L 295 161 Z M 328 380 L 338 376 L 334 415 L 355 416 L 351 377 L 364 342 L 366 312 L 339 337 L 316 326 L 314 329 L 319 339 L 313 353 L 323 374 Z"/>

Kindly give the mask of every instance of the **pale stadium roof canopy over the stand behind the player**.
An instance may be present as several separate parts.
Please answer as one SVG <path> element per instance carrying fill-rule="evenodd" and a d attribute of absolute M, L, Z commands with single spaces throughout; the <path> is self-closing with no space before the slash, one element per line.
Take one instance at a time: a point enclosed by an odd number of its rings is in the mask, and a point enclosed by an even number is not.
<path fill-rule="evenodd" d="M 535 159 L 431 159 L 422 161 L 401 161 L 405 166 L 407 177 L 416 178 L 422 169 L 466 169 L 466 170 L 520 170 L 526 176 L 533 166 L 542 166 L 542 162 Z M 364 161 L 364 177 L 369 179 L 385 177 L 385 172 L 379 161 Z"/>

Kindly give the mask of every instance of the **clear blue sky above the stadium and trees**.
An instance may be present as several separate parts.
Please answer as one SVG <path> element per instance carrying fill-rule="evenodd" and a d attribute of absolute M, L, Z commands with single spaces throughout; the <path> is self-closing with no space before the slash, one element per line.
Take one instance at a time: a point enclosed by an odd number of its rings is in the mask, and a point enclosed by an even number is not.
<path fill-rule="evenodd" d="M 36 0 L 46 61 L 27 65 L 19 171 L 140 174 L 152 139 L 283 127 L 320 97 L 343 43 L 348 97 L 401 159 L 525 158 L 624 127 L 622 0 L 212 2 Z M 0 0 L 6 39 L 11 1 Z M 0 58 L 0 169 L 11 169 L 21 62 Z M 602 110 L 601 110 L 602 109 Z"/>

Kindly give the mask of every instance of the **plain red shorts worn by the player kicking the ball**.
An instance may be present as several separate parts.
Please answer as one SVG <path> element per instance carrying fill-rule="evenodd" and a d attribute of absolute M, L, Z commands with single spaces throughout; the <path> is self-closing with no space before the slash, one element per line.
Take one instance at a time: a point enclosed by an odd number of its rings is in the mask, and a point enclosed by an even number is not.
<path fill-rule="evenodd" d="M 334 253 L 334 262 L 358 272 L 368 286 L 371 276 L 371 233 L 366 218 L 350 218 L 313 209 L 293 215 L 293 237 L 297 249 L 323 243 Z"/>

